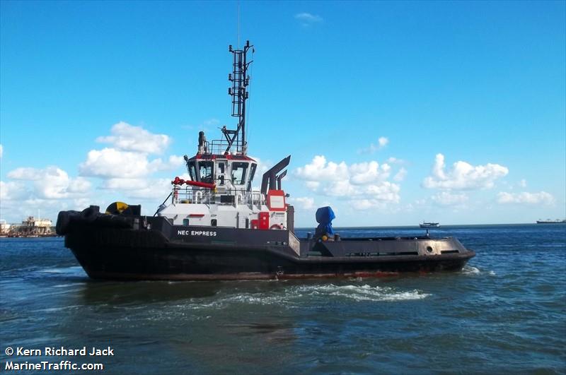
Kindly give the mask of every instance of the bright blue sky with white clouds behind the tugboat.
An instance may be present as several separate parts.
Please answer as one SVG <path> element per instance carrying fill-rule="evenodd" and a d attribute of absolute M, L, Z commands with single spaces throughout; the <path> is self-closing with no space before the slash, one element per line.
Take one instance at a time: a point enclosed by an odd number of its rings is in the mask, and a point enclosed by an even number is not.
<path fill-rule="evenodd" d="M 566 218 L 565 1 L 241 1 L 296 225 Z M 0 1 L 0 218 L 142 205 L 233 127 L 236 1 Z M 260 179 L 256 177 L 255 186 Z"/>

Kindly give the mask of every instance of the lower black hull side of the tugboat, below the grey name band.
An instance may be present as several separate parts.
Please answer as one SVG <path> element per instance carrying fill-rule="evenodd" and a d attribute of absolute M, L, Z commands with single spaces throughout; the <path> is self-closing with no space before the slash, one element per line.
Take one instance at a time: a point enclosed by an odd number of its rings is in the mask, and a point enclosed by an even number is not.
<path fill-rule="evenodd" d="M 289 258 L 267 249 L 163 248 L 72 249 L 94 279 L 259 280 L 368 277 L 400 272 L 460 270 L 472 254 L 374 258 Z"/>

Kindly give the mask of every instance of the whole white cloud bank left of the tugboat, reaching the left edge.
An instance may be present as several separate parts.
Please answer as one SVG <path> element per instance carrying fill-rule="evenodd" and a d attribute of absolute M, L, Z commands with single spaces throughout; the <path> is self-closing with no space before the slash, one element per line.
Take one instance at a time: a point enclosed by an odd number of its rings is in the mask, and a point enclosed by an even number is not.
<path fill-rule="evenodd" d="M 86 160 L 79 165 L 81 177 L 69 177 L 66 171 L 54 166 L 45 169 L 20 167 L 8 172 L 8 181 L 0 183 L 2 213 L 9 213 L 7 217 L 11 220 L 19 220 L 18 216 L 33 215 L 37 208 L 41 208 L 42 213 L 54 219 L 57 210 L 83 209 L 97 203 L 104 205 L 122 199 L 120 197 L 135 198 L 136 201 L 165 198 L 171 190 L 171 180 L 152 178 L 151 174 L 177 169 L 184 164 L 183 157 L 177 155 L 150 160 L 149 155 L 162 153 L 171 138 L 150 133 L 139 126 L 123 122 L 115 124 L 110 136 L 99 137 L 97 141 L 111 143 L 111 146 L 88 152 Z M 100 189 L 108 192 L 91 197 L 91 181 L 85 177 L 102 178 Z"/>

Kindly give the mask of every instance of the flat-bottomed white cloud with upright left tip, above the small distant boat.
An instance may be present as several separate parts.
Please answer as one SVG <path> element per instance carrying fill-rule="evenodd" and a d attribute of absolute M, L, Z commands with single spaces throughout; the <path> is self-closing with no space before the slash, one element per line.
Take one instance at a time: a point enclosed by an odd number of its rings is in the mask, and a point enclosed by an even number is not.
<path fill-rule="evenodd" d="M 444 155 L 437 154 L 432 176 L 424 179 L 422 186 L 427 189 L 473 190 L 491 189 L 495 180 L 506 176 L 509 169 L 502 165 L 487 163 L 473 166 L 467 162 L 458 161 L 448 172 L 445 171 Z"/>

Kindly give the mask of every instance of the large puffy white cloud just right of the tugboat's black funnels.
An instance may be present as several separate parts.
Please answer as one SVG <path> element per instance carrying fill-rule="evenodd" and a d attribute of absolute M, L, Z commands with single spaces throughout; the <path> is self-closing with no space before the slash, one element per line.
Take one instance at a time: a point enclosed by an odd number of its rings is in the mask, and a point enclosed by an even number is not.
<path fill-rule="evenodd" d="M 323 155 L 295 169 L 308 189 L 325 196 L 343 197 L 359 209 L 383 203 L 398 203 L 400 186 L 386 181 L 391 173 L 387 164 L 376 161 L 348 166 L 345 162 L 327 162 Z"/>

